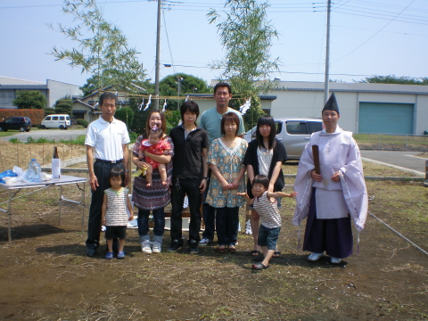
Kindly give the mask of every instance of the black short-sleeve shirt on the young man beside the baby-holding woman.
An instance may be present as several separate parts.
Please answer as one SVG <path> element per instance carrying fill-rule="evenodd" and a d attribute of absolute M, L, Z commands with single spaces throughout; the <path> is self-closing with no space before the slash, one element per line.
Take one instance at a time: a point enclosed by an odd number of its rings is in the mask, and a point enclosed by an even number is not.
<path fill-rule="evenodd" d="M 185 129 L 180 125 L 172 128 L 169 136 L 174 143 L 173 177 L 202 180 L 202 148 L 208 148 L 208 134 L 196 127 L 185 138 Z"/>

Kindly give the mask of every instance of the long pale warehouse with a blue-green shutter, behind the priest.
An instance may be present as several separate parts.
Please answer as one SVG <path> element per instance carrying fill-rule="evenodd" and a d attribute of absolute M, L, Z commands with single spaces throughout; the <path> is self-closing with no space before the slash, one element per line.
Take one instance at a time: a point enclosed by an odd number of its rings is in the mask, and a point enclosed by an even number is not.
<path fill-rule="evenodd" d="M 215 86 L 217 81 L 212 81 Z M 354 133 L 414 134 L 428 131 L 428 86 L 331 82 L 341 111 L 340 126 Z M 212 95 L 189 95 L 202 111 L 215 107 Z M 210 99 L 207 99 L 210 98 Z M 320 118 L 324 82 L 280 81 L 260 95 L 274 118 Z"/>

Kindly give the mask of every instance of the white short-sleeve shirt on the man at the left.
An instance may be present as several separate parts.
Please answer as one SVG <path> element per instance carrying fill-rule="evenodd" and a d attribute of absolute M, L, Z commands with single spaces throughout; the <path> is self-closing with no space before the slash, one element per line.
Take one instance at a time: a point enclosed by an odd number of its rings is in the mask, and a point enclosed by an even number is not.
<path fill-rule="evenodd" d="M 123 159 L 122 144 L 129 144 L 127 125 L 119 119 L 109 122 L 100 116 L 87 127 L 85 144 L 95 148 L 95 159 L 119 161 Z"/>

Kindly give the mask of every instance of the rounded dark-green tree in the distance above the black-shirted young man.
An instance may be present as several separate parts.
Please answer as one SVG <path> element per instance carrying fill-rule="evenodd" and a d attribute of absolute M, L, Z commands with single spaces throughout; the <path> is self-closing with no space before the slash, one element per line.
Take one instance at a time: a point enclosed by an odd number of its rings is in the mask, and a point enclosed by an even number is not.
<path fill-rule="evenodd" d="M 159 82 L 159 92 L 161 96 L 178 96 L 178 82 L 180 87 L 180 96 L 184 97 L 185 94 L 197 93 L 205 94 L 210 93 L 205 80 L 194 77 L 185 73 L 176 73 L 169 75 Z M 179 109 L 178 98 L 167 100 L 168 109 Z M 183 103 L 183 100 L 181 100 Z M 161 103 L 160 103 L 161 104 Z"/>

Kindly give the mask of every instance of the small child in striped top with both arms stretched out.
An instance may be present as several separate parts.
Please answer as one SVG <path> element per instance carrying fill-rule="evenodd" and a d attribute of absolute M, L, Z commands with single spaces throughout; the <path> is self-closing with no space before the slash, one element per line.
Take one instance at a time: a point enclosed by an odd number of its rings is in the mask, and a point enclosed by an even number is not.
<path fill-rule="evenodd" d="M 279 232 L 281 231 L 281 215 L 276 204 L 278 197 L 295 197 L 297 192 L 268 192 L 269 178 L 263 175 L 257 175 L 252 180 L 253 199 L 250 199 L 247 193 L 237 193 L 244 196 L 247 203 L 252 205 L 254 210 L 260 216 L 260 228 L 258 244 L 263 251 L 264 259 L 262 262 L 253 264 L 252 268 L 261 270 L 269 267 L 269 261 L 276 249 Z"/>

